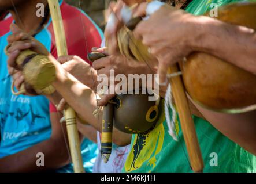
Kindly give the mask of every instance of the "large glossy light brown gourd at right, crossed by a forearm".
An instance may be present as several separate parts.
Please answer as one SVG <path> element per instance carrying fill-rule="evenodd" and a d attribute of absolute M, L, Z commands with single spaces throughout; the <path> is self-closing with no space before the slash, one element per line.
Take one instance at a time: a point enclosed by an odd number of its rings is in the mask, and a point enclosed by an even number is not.
<path fill-rule="evenodd" d="M 218 9 L 218 20 L 256 30 L 255 18 L 256 3 Z M 202 52 L 188 56 L 182 69 L 185 89 L 199 105 L 226 113 L 256 109 L 256 76 L 250 72 Z"/>

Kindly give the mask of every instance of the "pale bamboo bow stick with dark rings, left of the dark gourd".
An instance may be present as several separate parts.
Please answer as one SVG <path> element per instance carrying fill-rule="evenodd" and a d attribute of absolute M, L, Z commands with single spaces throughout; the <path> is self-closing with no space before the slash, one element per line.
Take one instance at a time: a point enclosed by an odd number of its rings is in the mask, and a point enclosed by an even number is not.
<path fill-rule="evenodd" d="M 51 13 L 51 20 L 53 21 L 55 43 L 58 56 L 68 55 L 65 30 L 62 22 L 59 2 L 58 0 L 48 0 L 48 4 Z M 71 152 L 73 169 L 75 173 L 83 173 L 84 167 L 81 157 L 80 140 L 76 125 L 76 113 L 71 107 L 68 107 L 64 111 L 64 116 L 66 120 L 66 129 L 68 132 L 69 150 Z"/>

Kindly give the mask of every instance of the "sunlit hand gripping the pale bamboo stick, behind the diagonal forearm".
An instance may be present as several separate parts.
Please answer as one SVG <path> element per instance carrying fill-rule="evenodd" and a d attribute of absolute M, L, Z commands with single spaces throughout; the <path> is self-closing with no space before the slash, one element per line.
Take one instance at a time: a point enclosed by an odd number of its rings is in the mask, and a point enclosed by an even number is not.
<path fill-rule="evenodd" d="M 77 80 L 96 91 L 97 71 L 90 64 L 79 56 L 61 56 L 58 57 L 58 62 L 62 64 L 62 67 L 67 72 L 75 76 Z"/>

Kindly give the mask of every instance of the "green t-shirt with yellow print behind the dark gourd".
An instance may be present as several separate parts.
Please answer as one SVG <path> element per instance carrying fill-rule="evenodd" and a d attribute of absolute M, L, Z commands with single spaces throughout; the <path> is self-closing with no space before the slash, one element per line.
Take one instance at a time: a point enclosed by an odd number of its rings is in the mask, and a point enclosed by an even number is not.
<path fill-rule="evenodd" d="M 194 0 L 187 11 L 196 15 L 209 10 L 210 3 L 225 5 L 231 0 Z M 193 116 L 201 147 L 204 172 L 256 172 L 256 156 L 222 135 L 209 122 Z M 176 120 L 179 141 L 170 137 L 164 113 L 150 132 L 132 135 L 131 151 L 123 172 L 192 172 L 184 137 Z"/>

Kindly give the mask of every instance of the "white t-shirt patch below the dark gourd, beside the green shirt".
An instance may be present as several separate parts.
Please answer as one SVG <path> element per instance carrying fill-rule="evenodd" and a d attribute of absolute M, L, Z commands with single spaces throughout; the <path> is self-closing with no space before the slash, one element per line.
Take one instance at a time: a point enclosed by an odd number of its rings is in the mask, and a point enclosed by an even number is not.
<path fill-rule="evenodd" d="M 100 133 L 97 132 L 97 144 L 99 150 L 101 149 L 101 139 Z M 93 172 L 94 173 L 121 173 L 124 167 L 125 160 L 130 151 L 131 145 L 126 145 L 124 147 L 119 147 L 112 143 L 112 153 L 109 158 L 109 162 L 104 163 L 101 158 L 101 153 L 99 152 L 97 159 L 94 163 Z"/>

